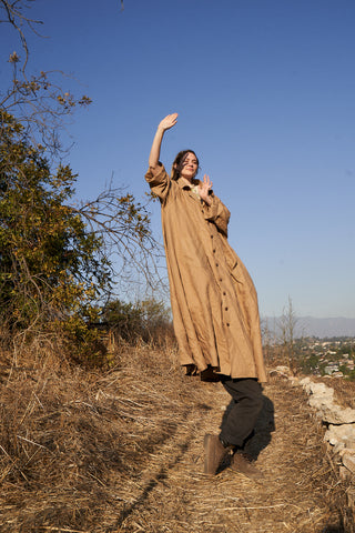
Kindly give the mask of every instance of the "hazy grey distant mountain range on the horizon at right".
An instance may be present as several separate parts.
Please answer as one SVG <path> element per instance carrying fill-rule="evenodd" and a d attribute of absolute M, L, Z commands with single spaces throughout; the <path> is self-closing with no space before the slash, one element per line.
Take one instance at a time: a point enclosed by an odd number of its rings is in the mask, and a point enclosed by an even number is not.
<path fill-rule="evenodd" d="M 281 318 L 264 316 L 262 324 L 267 321 L 271 331 Z M 277 329 L 277 328 L 276 328 Z M 315 319 L 313 316 L 297 316 L 295 323 L 295 339 L 301 336 L 355 336 L 355 319 L 336 316 L 334 319 Z"/>

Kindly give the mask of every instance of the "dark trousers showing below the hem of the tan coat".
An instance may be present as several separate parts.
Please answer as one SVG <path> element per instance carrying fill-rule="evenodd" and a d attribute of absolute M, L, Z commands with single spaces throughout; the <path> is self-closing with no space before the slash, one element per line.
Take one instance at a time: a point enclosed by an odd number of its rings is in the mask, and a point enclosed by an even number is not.
<path fill-rule="evenodd" d="M 224 444 L 242 449 L 263 406 L 262 388 L 253 379 L 223 376 L 221 381 L 232 400 L 223 415 L 220 439 Z"/>

